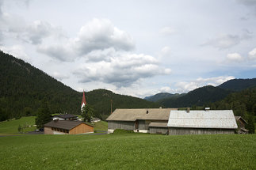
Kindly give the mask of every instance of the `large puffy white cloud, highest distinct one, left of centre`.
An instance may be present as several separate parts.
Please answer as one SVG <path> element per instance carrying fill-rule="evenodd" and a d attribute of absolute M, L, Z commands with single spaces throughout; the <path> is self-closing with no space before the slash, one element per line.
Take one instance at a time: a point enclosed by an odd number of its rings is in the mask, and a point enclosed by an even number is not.
<path fill-rule="evenodd" d="M 90 51 L 109 47 L 130 51 L 134 47 L 134 42 L 128 32 L 115 27 L 111 21 L 94 18 L 82 26 L 75 39 L 75 46 L 81 55 L 85 55 Z"/>

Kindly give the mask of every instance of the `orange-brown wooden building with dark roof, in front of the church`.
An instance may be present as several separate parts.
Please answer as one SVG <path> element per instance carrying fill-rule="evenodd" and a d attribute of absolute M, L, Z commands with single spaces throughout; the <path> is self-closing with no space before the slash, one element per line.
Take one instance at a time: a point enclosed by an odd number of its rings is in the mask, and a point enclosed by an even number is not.
<path fill-rule="evenodd" d="M 44 134 L 94 133 L 94 127 L 81 121 L 55 119 L 44 124 Z"/>

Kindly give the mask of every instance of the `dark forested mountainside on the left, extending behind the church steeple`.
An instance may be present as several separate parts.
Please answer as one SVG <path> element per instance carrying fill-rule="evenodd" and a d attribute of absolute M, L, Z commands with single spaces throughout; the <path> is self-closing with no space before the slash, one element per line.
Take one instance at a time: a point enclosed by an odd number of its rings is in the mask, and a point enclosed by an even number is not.
<path fill-rule="evenodd" d="M 82 93 L 63 85 L 29 63 L 0 51 L 0 119 L 3 113 L 9 118 L 35 115 L 44 98 L 48 100 L 52 113 L 80 113 Z M 113 100 L 113 110 L 159 108 L 159 104 L 105 89 L 86 93 L 87 103 L 94 107 L 95 115 L 101 119 L 110 114 L 110 100 Z"/>

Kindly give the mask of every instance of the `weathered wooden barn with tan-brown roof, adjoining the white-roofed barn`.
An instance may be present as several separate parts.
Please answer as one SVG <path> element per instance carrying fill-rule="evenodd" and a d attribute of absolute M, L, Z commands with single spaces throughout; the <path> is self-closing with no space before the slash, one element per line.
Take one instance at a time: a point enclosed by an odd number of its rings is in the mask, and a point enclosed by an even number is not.
<path fill-rule="evenodd" d="M 109 133 L 115 129 L 149 133 L 154 123 L 168 123 L 171 108 L 116 109 L 106 119 Z M 177 110 L 177 108 L 174 110 Z M 153 124 L 151 124 L 153 123 Z M 151 124 L 151 126 L 150 126 Z M 161 128 L 161 127 L 160 127 Z"/>

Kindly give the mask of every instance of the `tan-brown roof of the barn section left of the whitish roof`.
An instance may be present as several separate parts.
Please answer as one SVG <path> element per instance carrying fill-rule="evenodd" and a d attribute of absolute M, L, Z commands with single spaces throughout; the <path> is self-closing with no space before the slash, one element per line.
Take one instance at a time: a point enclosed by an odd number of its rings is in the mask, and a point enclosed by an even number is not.
<path fill-rule="evenodd" d="M 136 121 L 136 119 L 168 120 L 171 109 L 175 109 L 175 108 L 134 108 L 134 109 L 118 108 L 111 115 L 109 115 L 109 117 L 106 120 L 107 121 Z"/>

